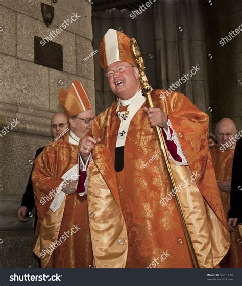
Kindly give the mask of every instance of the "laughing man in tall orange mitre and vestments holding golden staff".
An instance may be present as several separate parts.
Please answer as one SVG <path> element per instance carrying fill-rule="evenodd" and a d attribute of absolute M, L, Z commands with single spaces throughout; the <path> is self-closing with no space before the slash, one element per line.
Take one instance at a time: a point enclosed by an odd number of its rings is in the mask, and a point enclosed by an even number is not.
<path fill-rule="evenodd" d="M 84 161 L 90 152 L 93 158 L 88 211 L 95 266 L 216 267 L 230 241 L 209 164 L 208 115 L 176 91 L 152 90 L 155 107 L 148 108 L 130 39 L 120 31 L 108 30 L 99 55 L 118 102 L 96 118 L 92 136 L 86 136 L 80 147 Z M 165 139 L 174 190 L 154 126 L 161 128 Z M 158 260 L 162 253 L 166 259 Z"/>

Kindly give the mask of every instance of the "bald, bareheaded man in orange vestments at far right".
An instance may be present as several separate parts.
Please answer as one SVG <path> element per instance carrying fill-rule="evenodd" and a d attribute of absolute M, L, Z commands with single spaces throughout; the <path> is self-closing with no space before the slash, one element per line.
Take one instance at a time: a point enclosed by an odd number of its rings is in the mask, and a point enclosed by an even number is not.
<path fill-rule="evenodd" d="M 236 133 L 237 131 L 234 122 L 229 118 L 223 118 L 216 125 L 216 138 L 218 144 L 211 149 L 212 163 L 226 217 L 228 216 L 228 211 L 230 209 L 231 175 L 236 145 L 235 137 L 238 136 Z M 242 252 L 238 226 L 234 228 L 230 237 L 231 246 L 227 255 L 221 261 L 220 267 L 241 268 Z"/>

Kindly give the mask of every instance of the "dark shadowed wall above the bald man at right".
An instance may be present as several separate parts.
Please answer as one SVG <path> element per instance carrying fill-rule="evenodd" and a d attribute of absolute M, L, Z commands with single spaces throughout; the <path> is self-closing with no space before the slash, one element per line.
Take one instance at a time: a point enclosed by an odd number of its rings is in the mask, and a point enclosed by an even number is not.
<path fill-rule="evenodd" d="M 204 8 L 213 130 L 223 117 L 232 118 L 242 129 L 242 31 L 220 44 L 221 38 L 242 24 L 241 18 L 241 0 L 212 1 Z"/>

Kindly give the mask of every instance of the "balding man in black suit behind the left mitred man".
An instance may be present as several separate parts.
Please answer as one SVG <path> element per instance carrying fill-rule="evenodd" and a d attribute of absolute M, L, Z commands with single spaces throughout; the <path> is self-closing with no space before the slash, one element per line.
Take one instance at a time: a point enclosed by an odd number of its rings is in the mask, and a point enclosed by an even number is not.
<path fill-rule="evenodd" d="M 63 136 L 65 133 L 64 131 L 69 128 L 69 122 L 66 115 L 62 112 L 55 114 L 51 119 L 51 133 L 55 140 L 58 140 L 61 136 Z M 68 130 L 66 130 L 68 131 Z M 44 146 L 45 147 L 45 146 Z M 35 154 L 35 159 L 38 157 L 38 155 L 43 151 L 44 147 L 41 147 L 37 149 Z M 33 164 L 34 165 L 34 164 Z M 33 170 L 33 169 L 32 169 Z M 32 171 L 31 171 L 32 173 Z M 29 182 L 26 187 L 25 193 L 22 196 L 22 203 L 20 208 L 17 211 L 18 219 L 20 222 L 26 222 L 28 219 L 30 212 L 35 206 L 34 202 L 34 193 L 33 193 L 33 185 L 31 180 L 31 173 L 29 177 Z M 34 224 L 34 230 L 36 227 L 37 222 L 37 212 L 35 212 L 35 224 Z"/>

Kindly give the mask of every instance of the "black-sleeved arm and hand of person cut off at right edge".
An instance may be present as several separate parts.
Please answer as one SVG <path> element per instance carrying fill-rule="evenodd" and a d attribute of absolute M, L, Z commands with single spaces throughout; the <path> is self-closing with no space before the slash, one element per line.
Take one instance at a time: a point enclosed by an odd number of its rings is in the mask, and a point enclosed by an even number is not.
<path fill-rule="evenodd" d="M 242 223 L 242 139 L 237 141 L 234 150 L 230 210 L 228 213 L 228 226 L 230 231 L 237 224 Z"/>

